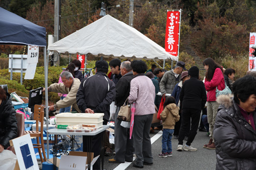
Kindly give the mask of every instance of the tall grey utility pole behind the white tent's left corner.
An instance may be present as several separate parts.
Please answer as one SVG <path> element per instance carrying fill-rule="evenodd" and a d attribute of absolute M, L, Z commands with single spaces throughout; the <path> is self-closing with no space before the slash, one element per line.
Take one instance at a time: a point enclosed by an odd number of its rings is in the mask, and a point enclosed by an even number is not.
<path fill-rule="evenodd" d="M 60 39 L 60 0 L 54 0 L 54 42 Z M 54 52 L 53 65 L 59 65 L 58 53 Z"/>

